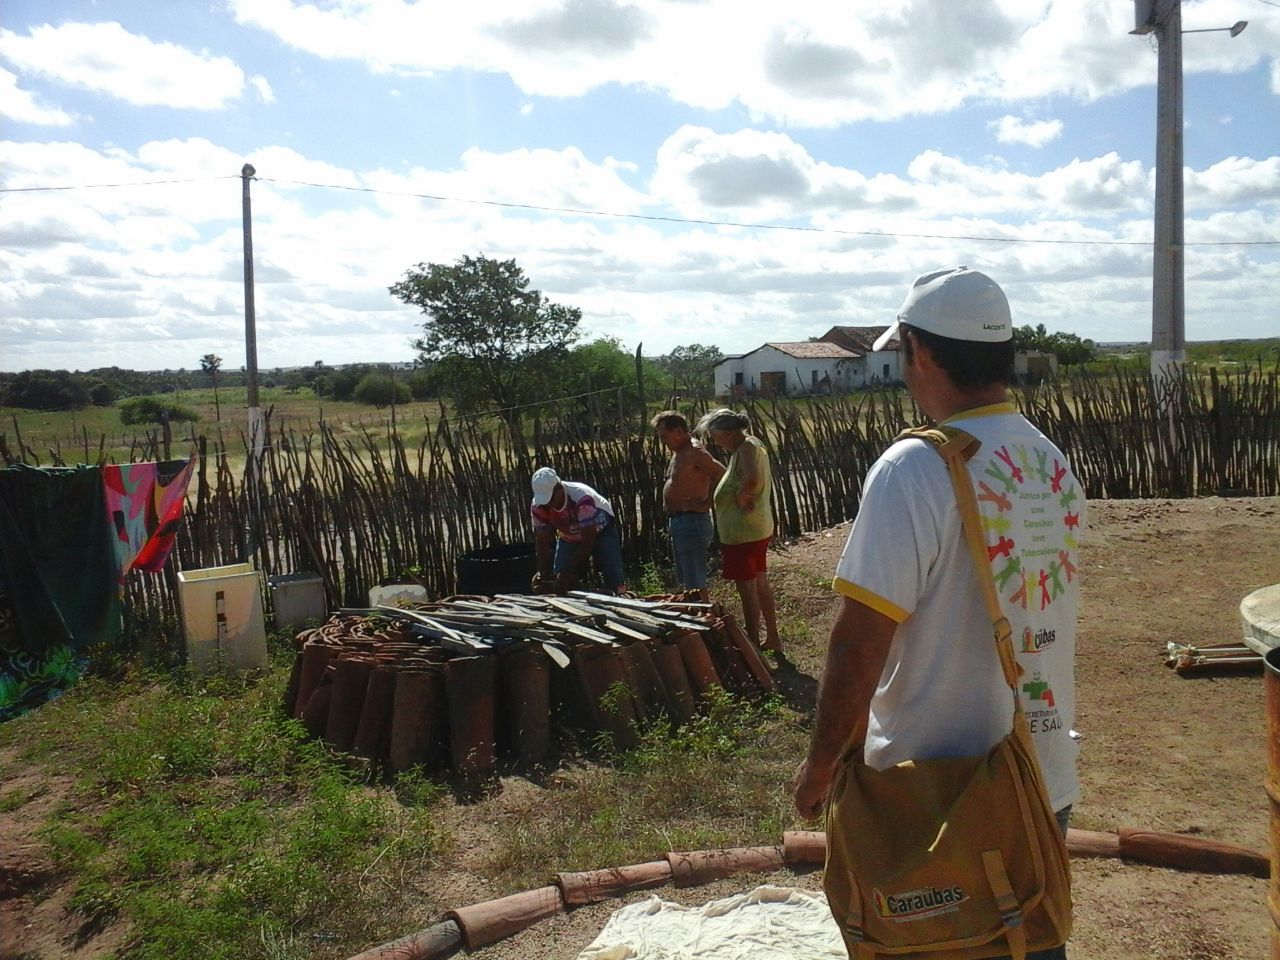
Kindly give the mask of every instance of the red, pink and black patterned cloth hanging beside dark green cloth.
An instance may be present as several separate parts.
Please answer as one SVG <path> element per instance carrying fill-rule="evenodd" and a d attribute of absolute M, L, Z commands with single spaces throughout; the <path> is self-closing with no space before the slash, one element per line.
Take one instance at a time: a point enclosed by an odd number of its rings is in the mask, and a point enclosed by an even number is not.
<path fill-rule="evenodd" d="M 157 571 L 178 536 L 196 458 L 102 467 L 106 513 L 120 579 L 131 570 Z"/>

